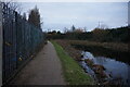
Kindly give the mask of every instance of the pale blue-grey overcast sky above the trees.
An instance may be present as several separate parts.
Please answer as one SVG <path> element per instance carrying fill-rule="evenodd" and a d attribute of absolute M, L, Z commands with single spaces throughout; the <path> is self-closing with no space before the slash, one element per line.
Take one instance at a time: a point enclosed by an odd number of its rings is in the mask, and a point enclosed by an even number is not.
<path fill-rule="evenodd" d="M 63 32 L 72 25 L 92 30 L 99 22 L 108 27 L 125 26 L 128 22 L 127 2 L 23 2 L 23 12 L 28 13 L 35 5 L 40 11 L 43 30 Z"/>

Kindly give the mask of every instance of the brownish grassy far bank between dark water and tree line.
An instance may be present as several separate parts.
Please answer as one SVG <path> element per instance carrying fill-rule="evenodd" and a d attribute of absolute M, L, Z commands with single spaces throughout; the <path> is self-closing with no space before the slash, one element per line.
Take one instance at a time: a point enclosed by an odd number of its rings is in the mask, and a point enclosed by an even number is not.
<path fill-rule="evenodd" d="M 102 47 L 102 48 L 106 48 L 115 51 L 128 52 L 128 44 L 122 44 L 122 42 L 96 42 L 96 41 L 88 41 L 88 40 L 68 40 L 68 42 L 70 45 Z"/>

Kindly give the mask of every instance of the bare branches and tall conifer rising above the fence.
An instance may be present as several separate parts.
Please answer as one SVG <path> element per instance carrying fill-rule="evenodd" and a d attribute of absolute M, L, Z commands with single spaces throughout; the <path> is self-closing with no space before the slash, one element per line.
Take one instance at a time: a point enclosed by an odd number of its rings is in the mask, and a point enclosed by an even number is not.
<path fill-rule="evenodd" d="M 11 10 L 16 11 L 18 14 L 21 14 L 22 8 L 17 2 L 13 2 L 12 0 L 1 0 L 0 2 L 4 3 Z M 27 20 L 30 24 L 35 25 L 36 27 L 41 28 L 42 23 L 37 5 L 29 11 L 28 18 L 26 16 L 26 13 L 23 13 L 23 18 Z"/>

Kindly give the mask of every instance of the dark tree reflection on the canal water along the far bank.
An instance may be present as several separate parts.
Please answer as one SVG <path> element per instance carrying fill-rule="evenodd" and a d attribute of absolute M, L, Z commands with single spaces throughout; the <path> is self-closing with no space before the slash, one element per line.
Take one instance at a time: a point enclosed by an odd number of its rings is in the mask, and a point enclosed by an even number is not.
<path fill-rule="evenodd" d="M 110 59 L 114 58 L 117 61 L 121 61 L 130 65 L 129 51 L 112 50 L 103 47 L 93 47 L 93 46 L 81 46 L 81 45 L 73 45 L 73 46 L 78 50 L 89 51 L 93 53 L 95 57 L 106 57 Z"/>

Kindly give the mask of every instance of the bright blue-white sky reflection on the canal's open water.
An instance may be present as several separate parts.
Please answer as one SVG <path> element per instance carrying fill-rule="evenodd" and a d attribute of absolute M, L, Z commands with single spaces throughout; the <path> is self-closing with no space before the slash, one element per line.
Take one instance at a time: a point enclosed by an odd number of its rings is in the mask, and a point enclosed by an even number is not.
<path fill-rule="evenodd" d="M 105 72 L 110 74 L 113 79 L 121 79 L 121 84 L 130 85 L 130 65 L 127 63 L 116 61 L 114 58 L 94 57 L 91 52 L 88 51 L 83 51 L 82 54 L 83 59 L 92 59 L 94 64 L 103 65 L 106 69 Z"/>

